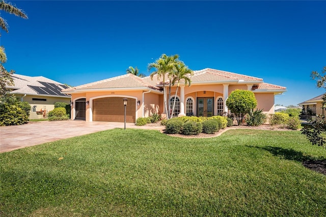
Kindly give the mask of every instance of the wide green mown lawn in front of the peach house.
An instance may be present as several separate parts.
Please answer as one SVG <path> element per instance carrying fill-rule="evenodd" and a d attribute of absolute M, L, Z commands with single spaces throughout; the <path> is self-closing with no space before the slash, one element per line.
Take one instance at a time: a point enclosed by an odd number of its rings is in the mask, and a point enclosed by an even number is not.
<path fill-rule="evenodd" d="M 324 216 L 326 176 L 302 161 L 325 158 L 300 131 L 107 130 L 0 154 L 0 215 Z"/>

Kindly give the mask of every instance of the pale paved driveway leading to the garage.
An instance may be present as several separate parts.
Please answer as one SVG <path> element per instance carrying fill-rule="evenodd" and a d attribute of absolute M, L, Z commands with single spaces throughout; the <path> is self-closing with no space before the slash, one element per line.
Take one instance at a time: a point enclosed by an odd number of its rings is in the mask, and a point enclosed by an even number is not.
<path fill-rule="evenodd" d="M 113 128 L 124 128 L 124 123 L 68 120 L 2 126 L 0 127 L 0 153 Z M 126 123 L 126 128 L 163 129 L 163 127 L 136 126 L 134 123 Z"/>

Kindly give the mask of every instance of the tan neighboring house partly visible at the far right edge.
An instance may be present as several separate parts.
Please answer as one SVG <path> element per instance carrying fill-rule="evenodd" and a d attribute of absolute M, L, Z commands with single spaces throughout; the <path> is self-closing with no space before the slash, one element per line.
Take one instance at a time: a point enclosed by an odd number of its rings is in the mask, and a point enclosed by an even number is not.
<path fill-rule="evenodd" d="M 325 115 L 322 106 L 322 96 L 323 94 L 298 104 L 303 107 L 303 115 L 301 116 L 303 119 L 312 118 L 312 116 L 316 116 L 316 114 Z"/>

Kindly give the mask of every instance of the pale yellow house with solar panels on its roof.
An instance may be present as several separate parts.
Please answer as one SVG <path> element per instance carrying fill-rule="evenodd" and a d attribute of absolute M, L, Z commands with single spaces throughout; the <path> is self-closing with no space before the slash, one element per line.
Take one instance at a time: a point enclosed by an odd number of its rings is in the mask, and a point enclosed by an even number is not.
<path fill-rule="evenodd" d="M 61 93 L 68 86 L 43 76 L 12 75 L 14 86 L 8 86 L 10 93 L 19 101 L 29 102 L 32 106 L 29 119 L 42 119 L 55 108 L 55 102 L 70 103 L 71 96 Z"/>

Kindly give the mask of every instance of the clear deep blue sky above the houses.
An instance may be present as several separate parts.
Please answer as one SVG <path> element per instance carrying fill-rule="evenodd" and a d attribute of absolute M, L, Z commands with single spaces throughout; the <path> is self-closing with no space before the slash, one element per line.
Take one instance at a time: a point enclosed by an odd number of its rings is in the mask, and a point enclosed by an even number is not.
<path fill-rule="evenodd" d="M 276 104 L 325 92 L 311 71 L 326 66 L 325 1 L 11 1 L 2 13 L 7 70 L 72 86 L 126 73 L 162 53 L 189 68 L 220 69 L 285 86 Z"/>

